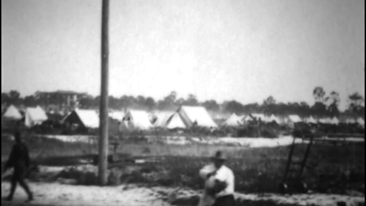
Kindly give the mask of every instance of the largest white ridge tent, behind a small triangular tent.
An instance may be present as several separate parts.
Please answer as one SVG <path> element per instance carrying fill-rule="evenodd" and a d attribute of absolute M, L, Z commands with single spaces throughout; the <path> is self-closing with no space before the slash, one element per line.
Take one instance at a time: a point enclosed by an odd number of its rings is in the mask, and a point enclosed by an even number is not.
<path fill-rule="evenodd" d="M 217 127 L 205 107 L 181 106 L 178 109 L 178 113 L 187 127 L 193 126 L 194 122 L 197 122 L 197 125 L 202 127 Z"/>

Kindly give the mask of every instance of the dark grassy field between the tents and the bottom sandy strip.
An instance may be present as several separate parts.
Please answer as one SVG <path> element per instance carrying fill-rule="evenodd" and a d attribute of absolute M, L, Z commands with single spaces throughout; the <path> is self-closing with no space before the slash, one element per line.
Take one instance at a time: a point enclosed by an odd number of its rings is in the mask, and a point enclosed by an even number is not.
<path fill-rule="evenodd" d="M 31 157 L 41 165 L 72 165 L 77 157 L 97 153 L 96 144 L 66 143 L 44 137 L 24 140 Z M 10 152 L 12 140 L 2 138 L 1 159 Z M 236 190 L 240 192 L 275 192 L 282 180 L 289 147 L 243 148 L 220 145 L 169 145 L 160 142 L 136 143 L 121 141 L 119 154 L 134 157 L 156 157 L 156 162 L 116 165 L 113 171 L 127 183 L 149 183 L 165 186 L 202 188 L 198 170 L 209 163 L 209 156 L 216 150 L 228 154 L 227 166 L 235 173 Z M 305 144 L 298 144 L 294 158 L 301 159 Z M 313 145 L 308 164 L 315 168 L 305 170 L 304 180 L 317 192 L 344 193 L 357 190 L 364 193 L 365 144 L 344 143 Z M 348 171 L 348 172 L 347 172 Z M 83 184 L 83 183 L 81 183 Z"/>

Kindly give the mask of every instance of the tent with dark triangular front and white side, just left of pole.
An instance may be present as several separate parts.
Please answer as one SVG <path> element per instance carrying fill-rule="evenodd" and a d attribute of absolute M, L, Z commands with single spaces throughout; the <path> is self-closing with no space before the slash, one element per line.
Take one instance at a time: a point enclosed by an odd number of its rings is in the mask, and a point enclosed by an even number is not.
<path fill-rule="evenodd" d="M 86 128 L 99 128 L 99 116 L 95 110 L 74 109 L 63 119 L 63 122 L 82 124 Z"/>

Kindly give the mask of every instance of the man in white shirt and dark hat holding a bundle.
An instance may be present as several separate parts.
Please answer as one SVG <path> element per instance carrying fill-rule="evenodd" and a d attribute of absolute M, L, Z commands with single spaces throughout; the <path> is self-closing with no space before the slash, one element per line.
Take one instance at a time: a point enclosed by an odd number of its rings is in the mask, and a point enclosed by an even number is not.
<path fill-rule="evenodd" d="M 212 164 L 206 165 L 199 171 L 199 176 L 206 181 L 205 192 L 200 200 L 200 206 L 235 206 L 234 173 L 224 165 L 226 158 L 221 151 L 212 157 Z M 214 177 L 214 178 L 213 178 Z M 208 180 L 214 179 L 213 187 L 207 187 Z M 214 201 L 209 201 L 210 196 Z M 214 202 L 212 204 L 212 202 Z"/>

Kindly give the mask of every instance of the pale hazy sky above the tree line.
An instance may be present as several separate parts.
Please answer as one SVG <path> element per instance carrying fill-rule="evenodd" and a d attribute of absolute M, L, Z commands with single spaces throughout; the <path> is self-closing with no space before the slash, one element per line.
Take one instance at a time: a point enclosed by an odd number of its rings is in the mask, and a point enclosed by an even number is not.
<path fill-rule="evenodd" d="M 110 0 L 115 96 L 365 95 L 364 0 Z M 1 91 L 100 92 L 101 0 L 1 0 Z"/>

